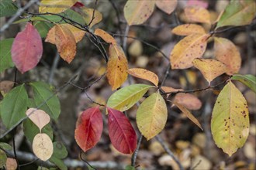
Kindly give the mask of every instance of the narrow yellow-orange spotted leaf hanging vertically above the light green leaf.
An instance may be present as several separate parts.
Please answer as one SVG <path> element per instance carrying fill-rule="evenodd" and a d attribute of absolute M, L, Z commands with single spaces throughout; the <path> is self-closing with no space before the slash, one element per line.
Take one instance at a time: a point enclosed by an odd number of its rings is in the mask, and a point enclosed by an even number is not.
<path fill-rule="evenodd" d="M 119 45 L 109 46 L 109 62 L 107 65 L 107 78 L 112 90 L 116 90 L 126 81 L 128 62 L 123 49 Z"/>

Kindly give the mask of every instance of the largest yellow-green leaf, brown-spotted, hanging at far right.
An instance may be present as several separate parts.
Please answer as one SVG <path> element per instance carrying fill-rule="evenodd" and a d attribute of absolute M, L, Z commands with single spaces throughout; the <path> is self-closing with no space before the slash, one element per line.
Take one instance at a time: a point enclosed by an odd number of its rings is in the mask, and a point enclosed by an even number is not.
<path fill-rule="evenodd" d="M 249 124 L 247 102 L 230 81 L 220 91 L 213 107 L 211 131 L 216 145 L 233 155 L 247 140 Z"/>

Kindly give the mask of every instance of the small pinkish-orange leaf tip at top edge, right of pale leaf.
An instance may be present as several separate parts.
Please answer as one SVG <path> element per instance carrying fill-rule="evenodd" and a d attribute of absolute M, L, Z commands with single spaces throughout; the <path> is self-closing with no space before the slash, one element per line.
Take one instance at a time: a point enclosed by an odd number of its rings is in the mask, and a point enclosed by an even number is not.
<path fill-rule="evenodd" d="M 177 6 L 177 0 L 157 0 L 156 5 L 163 12 L 171 14 Z"/>

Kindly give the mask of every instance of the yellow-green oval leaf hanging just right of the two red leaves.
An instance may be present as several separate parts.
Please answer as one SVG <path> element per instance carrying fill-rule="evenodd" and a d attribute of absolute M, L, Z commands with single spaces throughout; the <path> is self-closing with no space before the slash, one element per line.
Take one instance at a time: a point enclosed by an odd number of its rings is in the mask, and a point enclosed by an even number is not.
<path fill-rule="evenodd" d="M 137 110 L 137 126 L 147 140 L 154 138 L 163 129 L 167 121 L 167 107 L 159 92 L 153 93 Z"/>

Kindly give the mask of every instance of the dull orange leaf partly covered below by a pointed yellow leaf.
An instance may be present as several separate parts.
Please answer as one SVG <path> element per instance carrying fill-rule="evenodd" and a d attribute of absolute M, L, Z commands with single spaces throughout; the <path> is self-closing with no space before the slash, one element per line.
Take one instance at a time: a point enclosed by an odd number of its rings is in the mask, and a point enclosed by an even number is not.
<path fill-rule="evenodd" d="M 227 65 L 227 74 L 238 73 L 241 66 L 241 56 L 233 42 L 229 39 L 215 37 L 214 53 L 216 59 Z"/>

